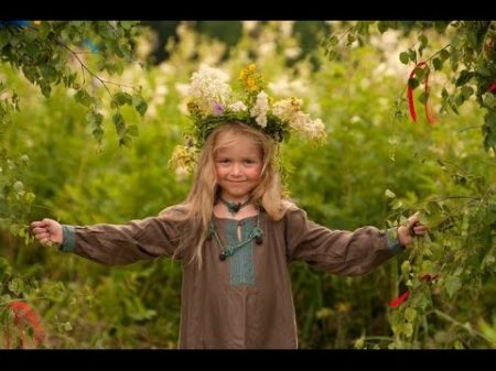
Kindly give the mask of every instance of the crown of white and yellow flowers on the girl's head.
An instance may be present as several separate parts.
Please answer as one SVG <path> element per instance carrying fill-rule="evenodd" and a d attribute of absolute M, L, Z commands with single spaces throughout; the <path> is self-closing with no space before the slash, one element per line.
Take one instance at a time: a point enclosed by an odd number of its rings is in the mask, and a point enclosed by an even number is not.
<path fill-rule="evenodd" d="M 321 119 L 312 120 L 302 110 L 302 100 L 295 97 L 274 101 L 265 91 L 266 81 L 255 64 L 239 74 L 242 96 L 233 92 L 229 76 L 206 65 L 193 73 L 188 90 L 187 111 L 193 120 L 193 138 L 186 146 L 177 146 L 171 163 L 175 167 L 191 168 L 195 154 L 211 132 L 228 122 L 240 121 L 256 128 L 276 142 L 288 139 L 291 132 L 322 142 L 325 127 Z M 192 157 L 193 156 L 193 157 Z"/>

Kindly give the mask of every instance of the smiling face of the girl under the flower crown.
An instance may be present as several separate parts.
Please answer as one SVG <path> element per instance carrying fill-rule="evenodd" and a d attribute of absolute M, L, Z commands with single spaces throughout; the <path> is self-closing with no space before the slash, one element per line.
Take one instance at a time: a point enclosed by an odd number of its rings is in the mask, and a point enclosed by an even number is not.
<path fill-rule="evenodd" d="M 260 184 L 263 163 L 261 150 L 247 135 L 236 135 L 227 145 L 218 149 L 214 162 L 222 197 L 228 201 L 245 201 Z"/>

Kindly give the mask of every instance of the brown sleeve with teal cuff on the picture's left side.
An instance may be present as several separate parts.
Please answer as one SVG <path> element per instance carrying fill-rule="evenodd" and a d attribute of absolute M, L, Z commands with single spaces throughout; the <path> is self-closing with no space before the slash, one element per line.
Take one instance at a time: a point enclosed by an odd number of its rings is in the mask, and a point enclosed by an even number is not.
<path fill-rule="evenodd" d="M 162 217 L 131 220 L 125 225 L 64 226 L 62 250 L 106 265 L 172 257 L 182 226 Z M 176 258 L 181 259 L 177 254 Z"/>

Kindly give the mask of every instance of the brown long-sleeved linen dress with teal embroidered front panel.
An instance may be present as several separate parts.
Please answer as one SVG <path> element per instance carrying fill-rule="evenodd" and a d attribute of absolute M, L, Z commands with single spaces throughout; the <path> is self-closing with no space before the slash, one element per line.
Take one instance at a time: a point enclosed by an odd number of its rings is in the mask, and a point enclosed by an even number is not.
<path fill-rule="evenodd" d="M 214 217 L 213 223 L 222 244 L 233 245 L 247 238 L 257 216 Z M 224 261 L 222 247 L 208 239 L 201 270 L 185 259 L 187 251 L 177 254 L 183 270 L 180 348 L 298 348 L 289 263 L 299 260 L 334 274 L 363 275 L 402 251 L 390 230 L 331 230 L 300 208 L 278 221 L 260 211 L 259 227 L 261 244 L 250 241 Z M 172 257 L 181 236 L 195 232 L 161 216 L 63 229 L 62 251 L 108 265 Z"/>

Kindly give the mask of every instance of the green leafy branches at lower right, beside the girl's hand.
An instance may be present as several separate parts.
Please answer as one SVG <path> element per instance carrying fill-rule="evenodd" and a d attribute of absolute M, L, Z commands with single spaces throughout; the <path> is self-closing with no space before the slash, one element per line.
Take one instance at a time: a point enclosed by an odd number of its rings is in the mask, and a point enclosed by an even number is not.
<path fill-rule="evenodd" d="M 391 327 L 396 337 L 390 346 L 425 347 L 429 343 L 428 321 L 436 317 L 457 325 L 456 340 L 453 341 L 462 341 L 463 347 L 474 347 L 478 341 L 494 347 L 495 343 L 481 332 L 452 316 L 452 313 L 466 315 L 461 308 L 464 304 L 461 297 L 479 297 L 482 287 L 496 272 L 494 181 L 488 182 L 486 174 L 470 174 L 452 162 L 439 160 L 436 163 L 452 182 L 446 189 L 451 190 L 449 196 L 431 195 L 422 203 L 403 199 L 401 207 L 396 207 L 395 199 L 390 203 L 397 210 L 390 219 L 392 225 L 403 220 L 401 215 L 420 209 L 420 219 L 430 229 L 429 243 L 417 241 L 409 260 L 401 265 L 400 283 L 412 294 L 401 309 L 393 309 Z M 448 304 L 453 301 L 456 303 L 454 308 Z M 408 317 L 411 310 L 417 314 L 413 319 Z M 406 334 L 405 329 L 410 325 L 412 331 Z"/>

